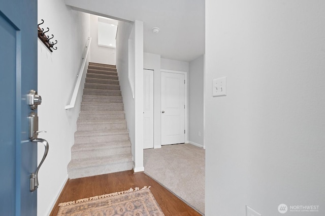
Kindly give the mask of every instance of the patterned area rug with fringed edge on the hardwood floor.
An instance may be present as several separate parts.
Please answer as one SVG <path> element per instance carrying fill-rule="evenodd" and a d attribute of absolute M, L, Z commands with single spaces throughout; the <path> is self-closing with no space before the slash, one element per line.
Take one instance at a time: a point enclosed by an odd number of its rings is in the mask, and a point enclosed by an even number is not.
<path fill-rule="evenodd" d="M 57 213 L 71 216 L 160 216 L 161 211 L 149 188 L 129 189 L 59 204 Z"/>

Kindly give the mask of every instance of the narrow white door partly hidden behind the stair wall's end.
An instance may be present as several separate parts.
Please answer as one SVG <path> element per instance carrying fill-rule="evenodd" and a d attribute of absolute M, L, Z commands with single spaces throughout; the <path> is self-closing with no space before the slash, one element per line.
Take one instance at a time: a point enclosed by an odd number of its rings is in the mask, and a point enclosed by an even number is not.
<path fill-rule="evenodd" d="M 153 70 L 143 70 L 143 148 L 153 148 Z"/>

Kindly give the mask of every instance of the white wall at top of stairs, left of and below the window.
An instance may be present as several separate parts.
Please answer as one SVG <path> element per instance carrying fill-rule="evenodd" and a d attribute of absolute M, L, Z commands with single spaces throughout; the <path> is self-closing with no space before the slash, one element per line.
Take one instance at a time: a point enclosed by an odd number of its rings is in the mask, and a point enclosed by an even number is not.
<path fill-rule="evenodd" d="M 98 16 L 90 15 L 90 61 L 102 64 L 115 65 L 116 49 L 98 46 Z"/>

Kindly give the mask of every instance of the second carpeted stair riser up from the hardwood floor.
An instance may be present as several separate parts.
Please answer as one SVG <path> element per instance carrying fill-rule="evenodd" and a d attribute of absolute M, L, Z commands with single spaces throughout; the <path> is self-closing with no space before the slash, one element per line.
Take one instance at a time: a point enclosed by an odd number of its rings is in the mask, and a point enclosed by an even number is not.
<path fill-rule="evenodd" d="M 102 156 L 110 156 L 110 155 L 116 155 L 116 154 L 127 154 L 130 152 L 131 152 L 131 146 L 121 147 L 121 148 L 98 149 L 95 151 L 93 151 L 93 150 L 92 151 L 72 151 L 71 159 L 102 157 Z"/>

